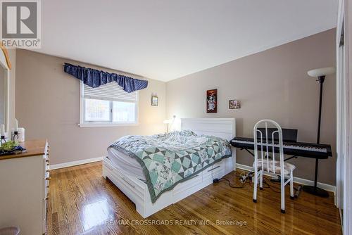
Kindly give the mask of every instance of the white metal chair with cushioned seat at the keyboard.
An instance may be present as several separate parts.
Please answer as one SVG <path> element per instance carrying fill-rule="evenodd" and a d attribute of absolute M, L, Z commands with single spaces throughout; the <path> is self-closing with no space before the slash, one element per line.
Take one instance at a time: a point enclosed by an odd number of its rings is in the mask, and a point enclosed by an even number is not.
<path fill-rule="evenodd" d="M 260 128 L 264 125 L 265 128 Z M 271 136 L 268 134 L 268 125 L 274 126 L 275 131 L 272 131 Z M 265 132 L 265 133 L 263 133 Z M 259 134 L 259 136 L 258 136 Z M 275 139 L 276 134 L 276 139 Z M 296 168 L 294 165 L 284 163 L 284 147 L 282 144 L 282 129 L 273 120 L 260 120 L 256 123 L 253 129 L 254 136 L 254 190 L 253 202 L 257 202 L 257 184 L 259 179 L 259 188 L 263 189 L 263 172 L 269 175 L 280 175 L 281 179 L 281 212 L 285 212 L 285 193 L 284 186 L 290 185 L 290 198 L 294 199 L 294 174 Z M 271 137 L 271 138 L 270 138 Z M 265 139 L 265 141 L 263 141 Z M 259 150 L 258 150 L 259 148 Z M 279 148 L 279 160 L 275 160 L 275 148 Z M 260 151 L 260 155 L 258 154 Z M 270 159 L 270 152 L 271 158 Z M 265 155 L 264 155 L 265 153 Z M 285 177 L 288 178 L 285 181 Z"/>

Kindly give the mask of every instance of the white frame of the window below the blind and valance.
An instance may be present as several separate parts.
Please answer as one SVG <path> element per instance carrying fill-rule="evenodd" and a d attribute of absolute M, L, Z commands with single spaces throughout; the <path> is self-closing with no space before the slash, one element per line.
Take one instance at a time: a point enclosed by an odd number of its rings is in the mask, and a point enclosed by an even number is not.
<path fill-rule="evenodd" d="M 135 117 L 136 120 L 134 122 L 113 122 L 113 101 L 109 101 L 110 103 L 110 120 L 109 121 L 87 121 L 85 120 L 85 102 L 84 102 L 84 83 L 80 81 L 80 123 L 78 124 L 80 127 L 121 127 L 121 126 L 137 126 L 139 125 L 139 92 L 137 92 L 136 101 L 126 101 L 124 99 L 116 99 L 114 101 L 121 101 L 126 103 L 134 103 L 135 104 Z M 98 99 L 99 100 L 99 99 Z"/>

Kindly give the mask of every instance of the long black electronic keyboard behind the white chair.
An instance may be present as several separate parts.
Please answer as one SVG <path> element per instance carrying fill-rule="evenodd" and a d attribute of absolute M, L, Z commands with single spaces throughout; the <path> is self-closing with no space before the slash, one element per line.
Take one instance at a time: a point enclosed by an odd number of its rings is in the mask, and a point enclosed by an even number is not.
<path fill-rule="evenodd" d="M 263 140 L 265 141 L 265 140 Z M 272 141 L 268 141 L 268 151 L 272 153 L 272 147 L 274 147 L 275 153 L 279 153 L 279 144 L 277 141 L 272 144 Z M 244 148 L 244 149 L 254 149 L 254 140 L 253 138 L 244 138 L 244 137 L 234 137 L 230 141 L 230 144 L 235 148 Z M 258 140 L 258 150 L 266 151 L 267 144 L 260 144 Z M 307 158 L 318 158 L 325 159 L 332 156 L 332 149 L 329 144 L 312 144 L 312 143 L 303 143 L 303 142 L 283 142 L 284 154 L 286 155 L 295 155 L 300 157 Z"/>

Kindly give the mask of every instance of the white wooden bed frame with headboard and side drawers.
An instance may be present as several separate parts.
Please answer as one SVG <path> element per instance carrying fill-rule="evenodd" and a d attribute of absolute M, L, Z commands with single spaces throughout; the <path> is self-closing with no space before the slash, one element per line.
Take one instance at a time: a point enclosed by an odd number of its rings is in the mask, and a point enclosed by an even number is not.
<path fill-rule="evenodd" d="M 234 118 L 183 118 L 181 129 L 191 129 L 196 134 L 218 136 L 230 141 L 235 135 Z M 136 205 L 137 212 L 146 218 L 158 210 L 177 203 L 213 183 L 213 178 L 221 178 L 236 167 L 236 151 L 232 148 L 232 158 L 225 158 L 196 176 L 177 184 L 163 193 L 155 203 L 151 203 L 148 186 L 136 177 L 128 176 L 114 167 L 108 156 L 103 158 L 103 177 L 108 178 Z M 213 175 L 212 175 L 213 172 Z"/>

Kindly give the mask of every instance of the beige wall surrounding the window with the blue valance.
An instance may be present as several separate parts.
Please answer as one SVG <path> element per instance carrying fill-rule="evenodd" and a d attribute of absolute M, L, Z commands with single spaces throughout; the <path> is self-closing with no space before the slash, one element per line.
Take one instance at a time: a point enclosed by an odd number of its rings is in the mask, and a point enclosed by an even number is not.
<path fill-rule="evenodd" d="M 165 82 L 156 80 L 149 80 L 148 88 L 139 91 L 139 125 L 78 127 L 80 81 L 63 72 L 64 62 L 114 72 L 55 56 L 17 50 L 15 116 L 20 127 L 26 129 L 26 139 L 48 139 L 51 164 L 101 157 L 106 154 L 109 144 L 127 134 L 165 132 Z M 151 106 L 152 93 L 159 96 L 157 107 Z"/>

